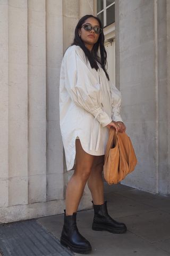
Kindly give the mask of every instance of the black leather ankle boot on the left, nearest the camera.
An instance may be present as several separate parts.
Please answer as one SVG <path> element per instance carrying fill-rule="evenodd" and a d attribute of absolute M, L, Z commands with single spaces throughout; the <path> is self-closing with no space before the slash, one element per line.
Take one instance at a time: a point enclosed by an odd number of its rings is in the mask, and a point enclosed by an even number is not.
<path fill-rule="evenodd" d="M 86 254 L 91 251 L 91 245 L 89 241 L 79 233 L 76 215 L 77 213 L 73 213 L 73 215 L 66 216 L 64 210 L 64 226 L 60 242 L 62 245 L 69 247 L 73 252 Z"/>

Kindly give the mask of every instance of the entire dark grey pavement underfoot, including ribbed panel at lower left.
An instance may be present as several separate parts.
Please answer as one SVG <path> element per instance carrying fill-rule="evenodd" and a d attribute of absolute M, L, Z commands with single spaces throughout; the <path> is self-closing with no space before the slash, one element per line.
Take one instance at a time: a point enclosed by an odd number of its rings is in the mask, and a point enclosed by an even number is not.
<path fill-rule="evenodd" d="M 91 256 L 170 256 L 170 197 L 105 183 L 105 199 L 109 214 L 125 222 L 128 231 L 93 231 L 94 210 L 79 211 L 78 228 L 92 245 Z M 63 215 L 2 225 L 0 256 L 81 255 L 60 244 Z"/>

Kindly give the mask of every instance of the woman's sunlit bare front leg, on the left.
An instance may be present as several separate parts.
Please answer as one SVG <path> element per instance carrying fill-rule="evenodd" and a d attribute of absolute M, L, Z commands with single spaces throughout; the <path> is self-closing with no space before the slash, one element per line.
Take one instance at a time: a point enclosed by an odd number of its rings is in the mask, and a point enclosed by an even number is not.
<path fill-rule="evenodd" d="M 66 189 L 66 215 L 77 212 L 95 157 L 83 150 L 80 140 L 75 140 L 75 149 L 76 167 Z"/>

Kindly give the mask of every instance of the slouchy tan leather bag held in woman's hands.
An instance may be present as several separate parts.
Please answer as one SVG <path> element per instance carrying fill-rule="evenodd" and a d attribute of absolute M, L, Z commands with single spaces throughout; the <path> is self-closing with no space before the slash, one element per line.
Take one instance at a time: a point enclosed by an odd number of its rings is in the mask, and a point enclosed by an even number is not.
<path fill-rule="evenodd" d="M 116 184 L 132 172 L 137 164 L 132 142 L 128 135 L 117 132 L 113 127 L 109 129 L 106 146 L 104 178 L 109 185 Z"/>

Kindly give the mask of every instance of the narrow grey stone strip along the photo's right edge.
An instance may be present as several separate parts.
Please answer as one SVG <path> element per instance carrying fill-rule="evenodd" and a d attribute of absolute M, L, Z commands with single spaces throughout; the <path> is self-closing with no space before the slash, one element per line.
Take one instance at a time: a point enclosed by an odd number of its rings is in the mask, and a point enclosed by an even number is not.
<path fill-rule="evenodd" d="M 169 174 L 169 1 L 157 1 L 157 76 L 158 76 L 158 191 L 170 194 Z"/>

